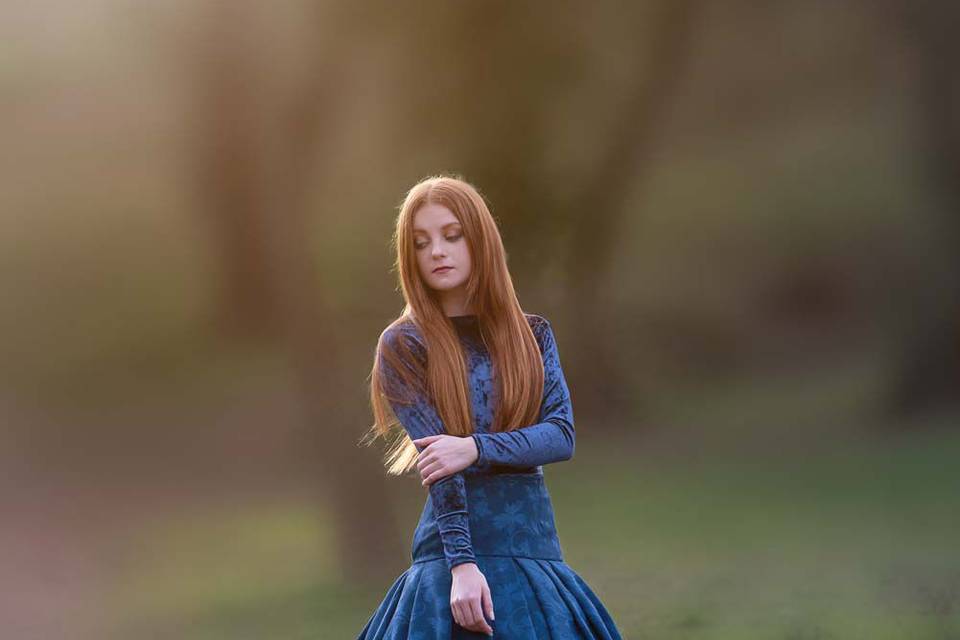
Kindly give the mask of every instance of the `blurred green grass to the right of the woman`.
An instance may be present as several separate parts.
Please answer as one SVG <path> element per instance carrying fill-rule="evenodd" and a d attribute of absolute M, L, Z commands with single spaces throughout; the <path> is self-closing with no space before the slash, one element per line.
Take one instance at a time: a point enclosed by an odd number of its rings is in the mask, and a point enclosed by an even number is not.
<path fill-rule="evenodd" d="M 943 431 L 683 469 L 598 450 L 551 487 L 567 561 L 627 637 L 950 638 L 958 455 Z"/>

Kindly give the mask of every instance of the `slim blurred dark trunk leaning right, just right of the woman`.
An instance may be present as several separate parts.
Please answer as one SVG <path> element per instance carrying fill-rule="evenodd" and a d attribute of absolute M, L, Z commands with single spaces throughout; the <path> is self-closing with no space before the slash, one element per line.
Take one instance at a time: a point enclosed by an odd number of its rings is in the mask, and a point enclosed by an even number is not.
<path fill-rule="evenodd" d="M 609 130 L 604 153 L 568 203 L 568 299 L 570 308 L 583 310 L 572 315 L 572 334 L 590 336 L 572 354 L 573 383 L 579 397 L 586 400 L 581 407 L 601 424 L 626 415 L 630 407 L 642 402 L 636 390 L 611 384 L 621 377 L 617 370 L 619 338 L 609 330 L 618 310 L 605 302 L 608 291 L 602 283 L 611 276 L 609 266 L 621 221 L 628 213 L 627 199 L 652 169 L 652 153 L 661 142 L 658 128 L 690 55 L 698 4 L 696 0 L 663 2 L 655 11 L 625 16 L 636 20 L 638 28 L 641 16 L 653 20 L 641 58 L 647 64 L 638 64 L 638 80 L 622 88 L 624 105 Z"/>

